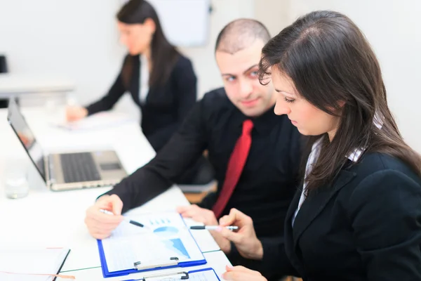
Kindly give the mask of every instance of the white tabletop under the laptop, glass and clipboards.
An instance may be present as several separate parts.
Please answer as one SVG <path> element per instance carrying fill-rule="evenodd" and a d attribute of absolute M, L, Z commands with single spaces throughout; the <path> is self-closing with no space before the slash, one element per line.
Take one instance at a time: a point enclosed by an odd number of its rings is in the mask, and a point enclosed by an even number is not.
<path fill-rule="evenodd" d="M 146 164 L 155 155 L 135 120 L 107 129 L 67 131 L 47 122 L 48 119 L 64 118 L 64 110 L 46 112 L 42 108 L 31 108 L 24 110 L 24 114 L 37 141 L 49 151 L 112 148 L 116 150 L 128 173 Z M 96 197 L 109 188 L 65 192 L 47 190 L 34 166 L 30 164 L 18 138 L 7 124 L 6 110 L 0 110 L 0 132 L 0 174 L 4 171 L 7 159 L 21 159 L 32 170 L 27 197 L 18 200 L 7 199 L 3 182 L 0 181 L 0 247 L 11 244 L 69 247 L 71 252 L 62 272 L 76 276 L 77 280 L 102 280 L 96 240 L 88 234 L 83 219 L 86 209 L 93 204 Z M 189 202 L 180 189 L 174 186 L 131 212 L 162 211 L 174 209 L 181 204 Z M 208 263 L 202 267 L 212 267 L 218 274 L 222 274 L 229 261 L 219 250 L 210 233 L 201 230 L 194 232 L 194 237 L 201 250 L 206 253 Z M 123 278 L 107 278 L 121 279 Z"/>

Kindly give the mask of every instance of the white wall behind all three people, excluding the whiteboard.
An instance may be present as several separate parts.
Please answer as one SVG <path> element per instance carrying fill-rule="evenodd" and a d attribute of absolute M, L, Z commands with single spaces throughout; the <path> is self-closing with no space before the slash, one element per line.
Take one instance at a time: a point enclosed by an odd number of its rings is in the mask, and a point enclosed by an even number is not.
<path fill-rule="evenodd" d="M 169 1 L 169 0 L 168 0 Z M 75 81 L 86 104 L 104 95 L 121 67 L 117 0 L 0 0 L 0 53 L 10 71 L 55 74 Z M 221 86 L 213 48 L 218 32 L 235 18 L 257 18 L 276 34 L 298 15 L 334 9 L 349 15 L 380 59 L 394 112 L 404 138 L 421 152 L 421 1 L 419 0 L 212 0 L 209 44 L 181 48 L 199 77 L 198 98 Z M 128 97 L 117 109 L 138 115 Z"/>

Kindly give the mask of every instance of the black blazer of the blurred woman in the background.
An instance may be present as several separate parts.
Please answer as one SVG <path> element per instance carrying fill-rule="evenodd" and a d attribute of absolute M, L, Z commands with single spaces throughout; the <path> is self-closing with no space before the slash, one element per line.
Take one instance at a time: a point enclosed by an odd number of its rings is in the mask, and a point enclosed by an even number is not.
<path fill-rule="evenodd" d="M 131 60 L 132 72 L 128 87 L 123 81 L 124 65 Z M 139 100 L 139 56 L 126 55 L 121 72 L 105 97 L 89 105 L 88 115 L 110 110 L 126 91 L 142 111 L 142 131 L 155 151 L 160 150 L 178 129 L 196 103 L 196 74 L 191 61 L 180 55 L 163 86 L 149 88 L 145 104 Z"/>

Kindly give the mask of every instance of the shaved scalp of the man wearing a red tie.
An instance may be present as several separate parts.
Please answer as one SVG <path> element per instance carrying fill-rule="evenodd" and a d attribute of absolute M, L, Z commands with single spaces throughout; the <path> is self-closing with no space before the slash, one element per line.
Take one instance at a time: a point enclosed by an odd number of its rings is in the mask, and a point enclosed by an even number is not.
<path fill-rule="evenodd" d="M 258 20 L 241 18 L 225 25 L 216 39 L 215 52 L 234 54 L 260 39 L 264 44 L 270 39 L 269 31 Z"/>

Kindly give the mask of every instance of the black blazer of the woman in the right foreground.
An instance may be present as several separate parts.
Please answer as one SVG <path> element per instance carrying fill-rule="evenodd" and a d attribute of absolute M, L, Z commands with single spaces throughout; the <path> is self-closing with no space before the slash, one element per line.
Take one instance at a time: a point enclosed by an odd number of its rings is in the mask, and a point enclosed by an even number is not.
<path fill-rule="evenodd" d="M 285 249 L 305 281 L 421 280 L 421 179 L 394 157 L 368 153 L 333 186 L 286 216 Z"/>

